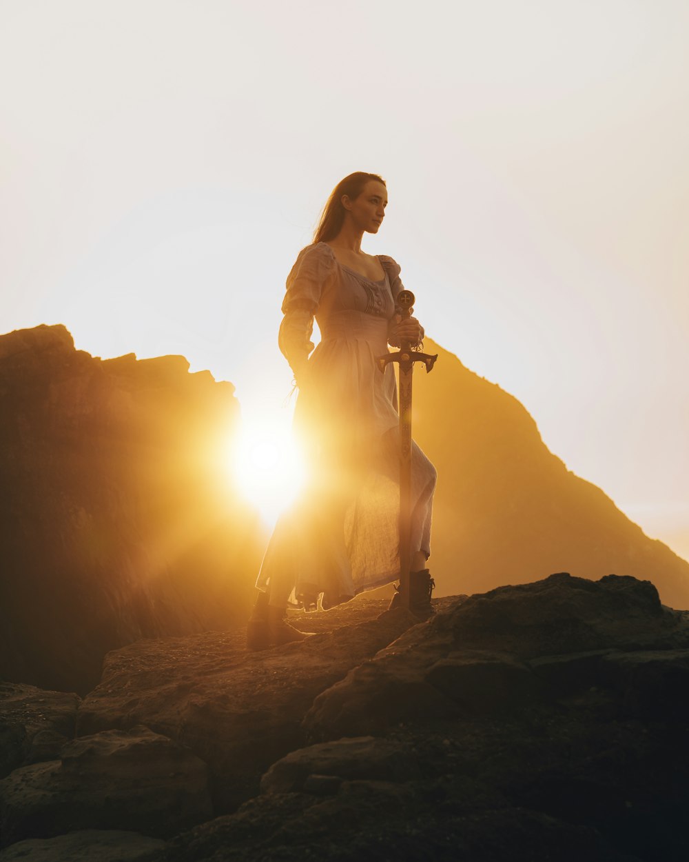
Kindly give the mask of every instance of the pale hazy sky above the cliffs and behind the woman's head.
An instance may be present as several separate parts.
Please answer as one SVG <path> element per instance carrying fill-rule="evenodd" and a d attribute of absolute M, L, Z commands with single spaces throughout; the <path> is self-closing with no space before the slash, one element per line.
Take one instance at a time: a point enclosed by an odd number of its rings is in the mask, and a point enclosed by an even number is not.
<path fill-rule="evenodd" d="M 1 329 L 286 422 L 285 276 L 380 172 L 428 334 L 689 557 L 687 45 L 686 0 L 0 0 Z"/>

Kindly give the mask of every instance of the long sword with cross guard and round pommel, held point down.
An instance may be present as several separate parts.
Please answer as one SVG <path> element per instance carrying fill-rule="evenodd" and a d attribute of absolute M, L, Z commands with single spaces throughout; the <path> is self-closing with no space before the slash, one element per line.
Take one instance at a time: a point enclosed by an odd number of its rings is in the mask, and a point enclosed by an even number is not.
<path fill-rule="evenodd" d="M 401 309 L 402 320 L 411 317 L 414 295 L 411 290 L 401 290 L 397 304 Z M 409 590 L 409 569 L 412 559 L 412 380 L 414 362 L 423 362 L 426 373 L 430 372 L 438 353 L 430 356 L 413 349 L 408 339 L 400 340 L 397 353 L 376 356 L 376 364 L 381 372 L 388 362 L 400 365 L 400 599 L 403 608 L 411 609 Z"/>

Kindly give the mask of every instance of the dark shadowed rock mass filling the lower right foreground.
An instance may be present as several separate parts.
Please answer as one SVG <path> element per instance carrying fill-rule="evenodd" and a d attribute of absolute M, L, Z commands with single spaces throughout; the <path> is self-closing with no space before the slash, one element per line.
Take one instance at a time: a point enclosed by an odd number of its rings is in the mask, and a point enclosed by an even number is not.
<path fill-rule="evenodd" d="M 633 578 L 450 603 L 315 699 L 328 741 L 164 860 L 679 862 L 687 658 L 686 614 Z"/>

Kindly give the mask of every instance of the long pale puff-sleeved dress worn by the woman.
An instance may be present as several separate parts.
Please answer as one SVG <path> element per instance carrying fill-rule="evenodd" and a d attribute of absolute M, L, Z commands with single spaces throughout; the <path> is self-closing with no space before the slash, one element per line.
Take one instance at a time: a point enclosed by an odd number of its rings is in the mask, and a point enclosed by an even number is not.
<path fill-rule="evenodd" d="M 324 592 L 327 605 L 400 577 L 400 419 L 393 365 L 381 372 L 375 360 L 388 353 L 403 285 L 400 266 L 378 259 L 385 277 L 372 281 L 319 242 L 289 272 L 279 345 L 300 387 L 295 430 L 311 475 L 276 523 L 260 590 L 289 577 L 297 594 Z M 426 559 L 435 484 L 435 467 L 414 443 L 411 550 Z"/>

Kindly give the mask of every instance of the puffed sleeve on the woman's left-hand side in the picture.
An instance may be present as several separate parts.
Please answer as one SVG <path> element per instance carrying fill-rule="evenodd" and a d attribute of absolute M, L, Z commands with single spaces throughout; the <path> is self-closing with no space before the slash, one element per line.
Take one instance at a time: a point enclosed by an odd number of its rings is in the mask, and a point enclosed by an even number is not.
<path fill-rule="evenodd" d="M 332 278 L 330 247 L 325 243 L 302 248 L 287 277 L 287 292 L 282 300 L 282 323 L 277 343 L 298 381 L 313 350 L 313 315 Z"/>

